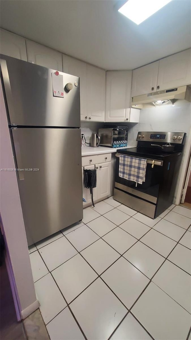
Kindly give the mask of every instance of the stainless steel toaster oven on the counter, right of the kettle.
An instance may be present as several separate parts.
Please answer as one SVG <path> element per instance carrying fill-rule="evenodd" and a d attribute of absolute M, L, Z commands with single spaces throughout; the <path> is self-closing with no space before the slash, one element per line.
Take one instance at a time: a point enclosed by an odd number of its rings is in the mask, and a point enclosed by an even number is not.
<path fill-rule="evenodd" d="M 99 129 L 100 145 L 110 148 L 120 148 L 127 146 L 127 128 L 110 127 Z"/>

